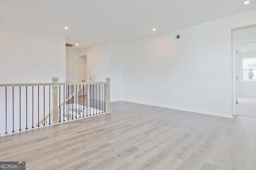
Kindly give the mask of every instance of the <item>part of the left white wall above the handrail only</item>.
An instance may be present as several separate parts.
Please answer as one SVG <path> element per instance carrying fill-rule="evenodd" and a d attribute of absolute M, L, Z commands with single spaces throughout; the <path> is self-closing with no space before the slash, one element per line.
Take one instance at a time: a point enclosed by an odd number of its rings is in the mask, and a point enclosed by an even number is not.
<path fill-rule="evenodd" d="M 0 84 L 65 82 L 65 36 L 0 23 Z"/>

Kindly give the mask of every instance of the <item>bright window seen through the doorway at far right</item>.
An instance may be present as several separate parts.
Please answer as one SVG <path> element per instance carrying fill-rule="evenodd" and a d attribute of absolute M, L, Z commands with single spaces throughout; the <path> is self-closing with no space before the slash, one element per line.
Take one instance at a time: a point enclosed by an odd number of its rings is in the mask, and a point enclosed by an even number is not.
<path fill-rule="evenodd" d="M 256 80 L 256 58 L 244 58 L 242 60 L 243 81 Z"/>

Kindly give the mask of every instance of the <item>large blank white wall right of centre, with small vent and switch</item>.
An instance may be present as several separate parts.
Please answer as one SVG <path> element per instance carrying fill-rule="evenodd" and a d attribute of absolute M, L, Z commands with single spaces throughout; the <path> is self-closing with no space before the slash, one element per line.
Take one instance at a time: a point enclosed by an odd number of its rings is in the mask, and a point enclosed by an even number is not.
<path fill-rule="evenodd" d="M 123 100 L 232 117 L 231 29 L 255 23 L 252 11 L 123 44 Z"/>

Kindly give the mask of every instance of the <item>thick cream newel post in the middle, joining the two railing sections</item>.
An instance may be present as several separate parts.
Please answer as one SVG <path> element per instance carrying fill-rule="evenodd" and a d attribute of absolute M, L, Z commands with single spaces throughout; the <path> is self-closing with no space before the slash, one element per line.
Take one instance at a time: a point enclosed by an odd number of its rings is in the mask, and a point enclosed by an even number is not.
<path fill-rule="evenodd" d="M 51 124 L 59 122 L 59 111 L 58 111 L 58 77 L 52 78 L 52 115 Z"/>

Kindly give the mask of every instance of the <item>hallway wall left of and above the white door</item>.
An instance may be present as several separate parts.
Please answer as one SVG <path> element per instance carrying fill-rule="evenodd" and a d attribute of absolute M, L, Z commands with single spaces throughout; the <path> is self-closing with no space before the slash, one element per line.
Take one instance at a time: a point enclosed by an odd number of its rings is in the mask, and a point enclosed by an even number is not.
<path fill-rule="evenodd" d="M 74 62 L 86 63 L 86 58 L 79 56 L 78 51 L 66 49 L 66 81 L 74 81 Z"/>

